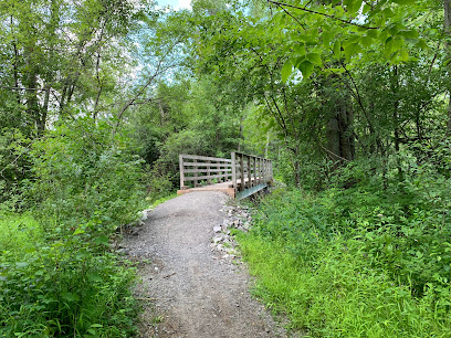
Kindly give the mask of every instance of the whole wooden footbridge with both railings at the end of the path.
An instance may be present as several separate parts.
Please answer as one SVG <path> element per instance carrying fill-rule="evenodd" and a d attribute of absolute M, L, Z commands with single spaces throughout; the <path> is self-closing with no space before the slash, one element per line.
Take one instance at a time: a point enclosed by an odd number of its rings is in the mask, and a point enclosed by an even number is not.
<path fill-rule="evenodd" d="M 244 199 L 271 184 L 272 161 L 233 151 L 231 158 L 180 155 L 180 190 L 222 191 L 237 200 Z"/>

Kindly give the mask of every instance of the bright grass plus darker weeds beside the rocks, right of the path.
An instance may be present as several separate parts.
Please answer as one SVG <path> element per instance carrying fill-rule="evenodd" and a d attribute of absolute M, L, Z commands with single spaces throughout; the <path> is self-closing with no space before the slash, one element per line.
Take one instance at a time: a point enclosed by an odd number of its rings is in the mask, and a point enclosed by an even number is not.
<path fill-rule="evenodd" d="M 337 231 L 344 220 L 331 221 L 328 202 L 285 192 L 260 205 L 252 231 L 239 235 L 255 295 L 311 337 L 451 337 L 449 284 L 431 273 L 419 295 L 415 275 L 409 283 L 371 252 L 373 233 Z"/>

